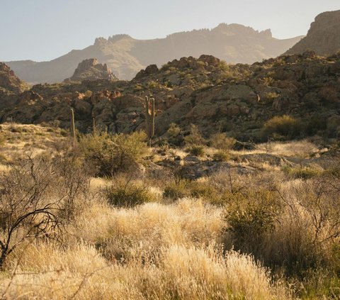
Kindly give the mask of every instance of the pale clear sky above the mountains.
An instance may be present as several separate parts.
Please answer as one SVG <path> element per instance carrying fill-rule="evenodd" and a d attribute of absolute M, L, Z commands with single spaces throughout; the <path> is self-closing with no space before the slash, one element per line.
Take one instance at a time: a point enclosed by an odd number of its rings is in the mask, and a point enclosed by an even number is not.
<path fill-rule="evenodd" d="M 0 0 L 0 61 L 52 60 L 98 37 L 165 38 L 219 23 L 292 38 L 339 9 L 340 0 Z"/>

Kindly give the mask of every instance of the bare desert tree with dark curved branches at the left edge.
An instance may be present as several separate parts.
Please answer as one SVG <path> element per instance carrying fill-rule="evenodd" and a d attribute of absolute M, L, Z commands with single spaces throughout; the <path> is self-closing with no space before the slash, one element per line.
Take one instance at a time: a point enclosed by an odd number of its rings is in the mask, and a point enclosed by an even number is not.
<path fill-rule="evenodd" d="M 0 176 L 0 268 L 21 243 L 60 233 L 62 199 L 51 196 L 54 175 L 43 158 L 29 157 Z"/>

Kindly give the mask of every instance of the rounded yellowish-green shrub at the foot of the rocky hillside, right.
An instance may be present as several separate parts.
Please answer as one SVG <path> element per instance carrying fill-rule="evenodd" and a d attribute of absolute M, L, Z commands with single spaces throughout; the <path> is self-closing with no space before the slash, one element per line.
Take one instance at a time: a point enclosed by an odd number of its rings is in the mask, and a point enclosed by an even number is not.
<path fill-rule="evenodd" d="M 269 137 L 283 140 L 297 138 L 301 134 L 302 123 L 291 116 L 275 116 L 268 120 L 262 128 L 263 139 Z"/>

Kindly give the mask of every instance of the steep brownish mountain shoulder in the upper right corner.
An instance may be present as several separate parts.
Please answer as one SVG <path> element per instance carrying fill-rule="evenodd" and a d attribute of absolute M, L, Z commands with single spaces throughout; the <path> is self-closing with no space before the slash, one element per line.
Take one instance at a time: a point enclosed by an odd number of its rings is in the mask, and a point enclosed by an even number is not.
<path fill-rule="evenodd" d="M 285 54 L 302 54 L 308 49 L 317 55 L 331 55 L 340 50 L 340 11 L 320 13 L 306 37 Z"/>

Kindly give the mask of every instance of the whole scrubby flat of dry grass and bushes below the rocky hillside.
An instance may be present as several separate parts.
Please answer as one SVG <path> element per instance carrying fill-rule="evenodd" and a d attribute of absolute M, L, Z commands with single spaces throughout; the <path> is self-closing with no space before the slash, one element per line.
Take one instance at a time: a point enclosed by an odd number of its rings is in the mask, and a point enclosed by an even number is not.
<path fill-rule="evenodd" d="M 340 297 L 336 144 L 0 134 L 3 299 Z"/>

